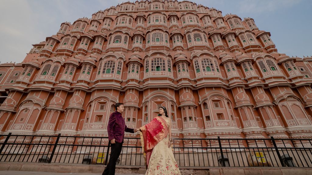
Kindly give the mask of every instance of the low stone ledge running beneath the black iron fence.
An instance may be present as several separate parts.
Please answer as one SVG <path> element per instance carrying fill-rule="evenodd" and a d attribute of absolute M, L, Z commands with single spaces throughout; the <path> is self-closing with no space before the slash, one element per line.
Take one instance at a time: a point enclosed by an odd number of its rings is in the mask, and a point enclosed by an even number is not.
<path fill-rule="evenodd" d="M 0 163 L 0 170 L 39 171 L 52 173 L 102 173 L 104 165 L 62 163 Z M 310 175 L 312 168 L 257 167 L 180 167 L 182 175 Z M 145 167 L 116 166 L 116 173 L 145 174 Z"/>

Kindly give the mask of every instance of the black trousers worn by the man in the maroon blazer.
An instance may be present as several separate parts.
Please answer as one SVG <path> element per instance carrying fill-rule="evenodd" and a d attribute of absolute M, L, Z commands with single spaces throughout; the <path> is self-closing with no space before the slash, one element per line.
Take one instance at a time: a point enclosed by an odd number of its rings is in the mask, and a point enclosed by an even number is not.
<path fill-rule="evenodd" d="M 111 144 L 110 160 L 102 175 L 115 175 L 116 161 L 119 158 L 122 149 L 122 143 L 115 142 Z"/>

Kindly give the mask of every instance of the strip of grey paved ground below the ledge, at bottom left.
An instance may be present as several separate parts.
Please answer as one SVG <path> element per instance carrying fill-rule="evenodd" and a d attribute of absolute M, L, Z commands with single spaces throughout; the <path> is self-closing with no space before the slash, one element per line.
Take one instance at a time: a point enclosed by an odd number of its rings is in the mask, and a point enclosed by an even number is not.
<path fill-rule="evenodd" d="M 51 173 L 38 171 L 0 171 L 0 175 L 101 175 L 101 173 Z M 115 175 L 140 175 L 140 174 L 120 174 Z"/>

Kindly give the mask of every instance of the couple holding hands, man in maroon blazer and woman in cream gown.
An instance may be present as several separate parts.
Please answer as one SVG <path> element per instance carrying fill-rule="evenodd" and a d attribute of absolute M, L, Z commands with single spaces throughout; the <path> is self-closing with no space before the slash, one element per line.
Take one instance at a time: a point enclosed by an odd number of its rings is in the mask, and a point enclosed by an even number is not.
<path fill-rule="evenodd" d="M 146 175 L 170 174 L 180 175 L 177 162 L 171 148 L 171 119 L 167 109 L 159 107 L 159 115 L 150 123 L 131 129 L 125 125 L 121 113 L 124 111 L 123 103 L 116 103 L 115 112 L 110 115 L 107 125 L 108 139 L 111 144 L 110 161 L 102 175 L 114 175 L 116 161 L 121 153 L 124 142 L 124 131 L 134 133 L 140 131 L 141 144 L 146 163 Z"/>

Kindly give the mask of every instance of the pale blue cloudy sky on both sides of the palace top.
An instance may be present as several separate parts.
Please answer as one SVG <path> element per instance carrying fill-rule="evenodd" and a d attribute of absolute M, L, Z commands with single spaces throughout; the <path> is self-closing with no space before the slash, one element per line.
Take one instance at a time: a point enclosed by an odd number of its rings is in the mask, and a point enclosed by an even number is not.
<path fill-rule="evenodd" d="M 73 23 L 123 0 L 1 0 L 0 61 L 20 63 L 26 53 L 47 36 L 56 34 L 62 22 Z M 126 1 L 124 1 L 126 2 Z M 311 0 L 193 0 L 241 19 L 251 17 L 259 30 L 271 32 L 279 53 L 312 55 Z"/>

